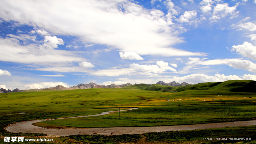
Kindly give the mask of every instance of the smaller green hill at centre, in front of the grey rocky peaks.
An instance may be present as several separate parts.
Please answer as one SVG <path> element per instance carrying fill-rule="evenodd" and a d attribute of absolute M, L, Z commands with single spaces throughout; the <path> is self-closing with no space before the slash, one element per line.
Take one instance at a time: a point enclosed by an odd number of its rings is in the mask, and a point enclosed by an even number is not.
<path fill-rule="evenodd" d="M 162 91 L 162 92 L 172 92 L 178 88 L 180 88 L 180 86 L 179 87 L 164 86 L 159 84 L 153 84 L 153 85 L 135 84 L 135 85 L 123 87 L 123 89 L 142 89 L 142 90 L 154 90 L 154 91 Z"/>

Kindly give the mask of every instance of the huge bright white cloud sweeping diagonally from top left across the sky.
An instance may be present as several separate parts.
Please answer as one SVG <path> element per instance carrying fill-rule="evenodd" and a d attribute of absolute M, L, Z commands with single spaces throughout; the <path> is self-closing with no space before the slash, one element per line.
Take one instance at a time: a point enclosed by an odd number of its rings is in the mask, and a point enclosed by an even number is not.
<path fill-rule="evenodd" d="M 71 35 L 86 43 L 113 46 L 123 53 L 132 51 L 138 55 L 166 57 L 206 55 L 172 48 L 183 42 L 178 34 L 184 29 L 172 23 L 168 14 L 143 8 L 129 0 L 38 2 L 0 1 L 0 16 L 5 21 L 44 28 L 55 35 Z M 164 3 L 170 15 L 178 14 L 172 1 Z M 49 12 L 49 9 L 54 11 Z M 43 30 L 37 33 L 46 34 Z M 56 43 L 62 44 L 59 40 Z M 56 45 L 47 43 L 45 46 L 54 48 Z"/>

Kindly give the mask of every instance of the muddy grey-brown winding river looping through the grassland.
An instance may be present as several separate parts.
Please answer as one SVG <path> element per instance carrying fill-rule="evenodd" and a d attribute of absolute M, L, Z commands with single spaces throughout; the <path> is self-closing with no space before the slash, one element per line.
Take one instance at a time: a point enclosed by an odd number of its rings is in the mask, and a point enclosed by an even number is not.
<path fill-rule="evenodd" d="M 127 109 L 127 110 L 133 110 Z M 126 111 L 126 110 L 120 110 Z M 78 117 L 91 117 L 110 114 L 112 112 L 118 111 L 106 111 L 97 115 L 88 116 L 78 116 Z M 78 117 L 68 117 L 68 118 L 78 118 Z M 66 118 L 59 118 L 66 119 Z M 40 122 L 42 120 L 25 121 L 18 122 L 16 124 L 10 125 L 6 128 L 9 132 L 34 132 L 34 133 L 45 133 L 47 135 L 55 136 L 69 136 L 69 135 L 90 135 L 96 132 L 100 135 L 110 135 L 113 132 L 114 135 L 122 134 L 136 134 L 145 132 L 159 132 L 159 131 L 170 131 L 170 130 L 194 130 L 194 129 L 208 129 L 208 128 L 223 128 L 223 127 L 237 127 L 237 126 L 252 126 L 256 125 L 256 120 L 249 121 L 235 121 L 235 122 L 219 122 L 210 124 L 195 124 L 195 125 L 179 125 L 179 126 L 157 126 L 157 127 L 110 127 L 110 128 L 73 128 L 73 129 L 45 129 L 42 127 L 33 126 L 33 123 Z"/>

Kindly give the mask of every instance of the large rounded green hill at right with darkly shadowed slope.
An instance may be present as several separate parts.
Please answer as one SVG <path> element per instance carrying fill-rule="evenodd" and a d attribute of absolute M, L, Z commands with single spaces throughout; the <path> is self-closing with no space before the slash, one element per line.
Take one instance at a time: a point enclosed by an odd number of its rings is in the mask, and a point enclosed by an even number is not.
<path fill-rule="evenodd" d="M 177 89 L 185 90 L 213 90 L 213 91 L 233 91 L 233 92 L 256 92 L 256 81 L 254 80 L 228 80 L 216 83 L 199 83 L 187 85 Z"/>

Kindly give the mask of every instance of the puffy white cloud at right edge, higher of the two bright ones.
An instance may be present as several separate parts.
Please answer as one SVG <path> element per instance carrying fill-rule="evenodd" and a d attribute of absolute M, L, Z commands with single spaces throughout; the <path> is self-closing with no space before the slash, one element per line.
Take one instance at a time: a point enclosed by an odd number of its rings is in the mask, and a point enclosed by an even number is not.
<path fill-rule="evenodd" d="M 244 42 L 242 45 L 232 47 L 232 50 L 236 50 L 240 55 L 256 60 L 256 46 L 253 46 L 251 43 Z"/>

